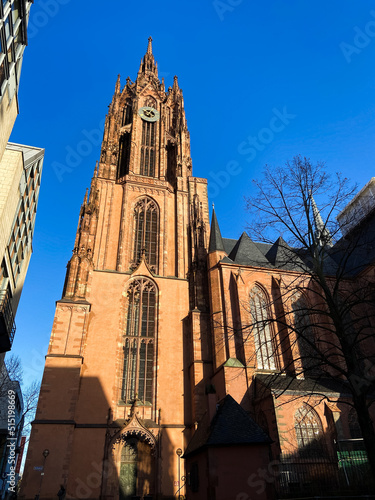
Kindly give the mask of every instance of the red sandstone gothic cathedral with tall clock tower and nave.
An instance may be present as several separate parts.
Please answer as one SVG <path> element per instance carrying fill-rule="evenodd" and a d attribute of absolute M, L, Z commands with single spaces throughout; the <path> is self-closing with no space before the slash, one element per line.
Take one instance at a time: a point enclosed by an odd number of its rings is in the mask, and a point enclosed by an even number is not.
<path fill-rule="evenodd" d="M 308 353 L 266 321 L 298 274 L 283 255 L 281 239 L 224 238 L 209 220 L 182 90 L 159 80 L 150 38 L 106 116 L 20 498 L 267 500 L 309 483 L 291 457 L 324 440 L 333 452 L 358 422 L 339 384 L 304 377 Z"/>

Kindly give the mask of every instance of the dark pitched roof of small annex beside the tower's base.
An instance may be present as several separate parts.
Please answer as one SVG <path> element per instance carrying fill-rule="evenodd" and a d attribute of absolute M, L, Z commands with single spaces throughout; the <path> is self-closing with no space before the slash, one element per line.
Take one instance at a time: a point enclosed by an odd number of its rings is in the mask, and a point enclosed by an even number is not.
<path fill-rule="evenodd" d="M 229 394 L 220 402 L 211 424 L 206 414 L 184 457 L 210 446 L 269 444 L 272 440 Z"/>

